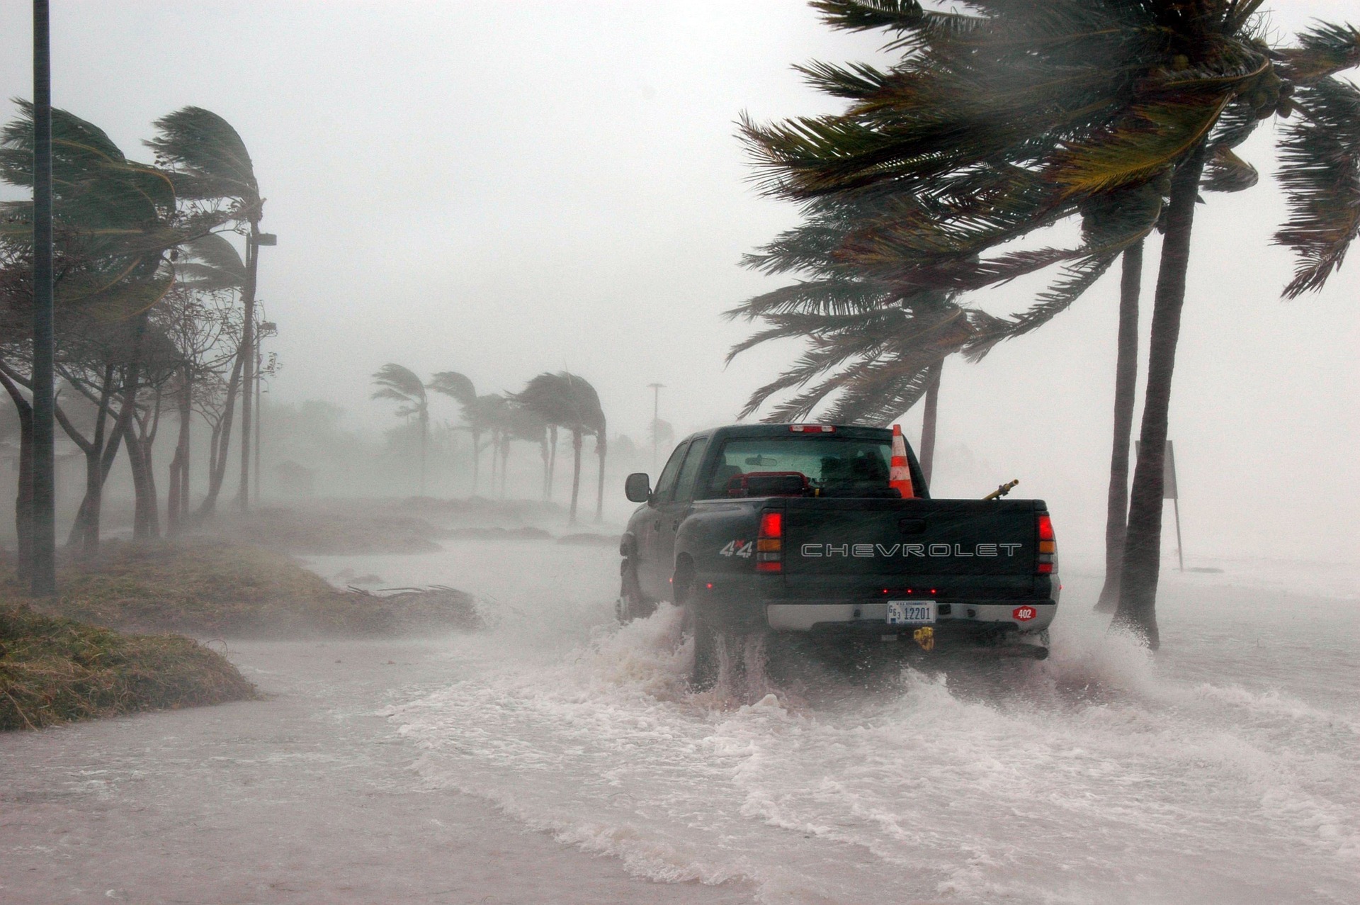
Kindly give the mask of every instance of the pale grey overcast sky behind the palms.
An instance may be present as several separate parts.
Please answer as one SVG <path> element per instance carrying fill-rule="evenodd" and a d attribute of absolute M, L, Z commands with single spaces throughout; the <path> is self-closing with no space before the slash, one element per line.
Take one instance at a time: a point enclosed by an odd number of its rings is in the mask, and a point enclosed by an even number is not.
<path fill-rule="evenodd" d="M 1268 5 L 1282 35 L 1312 16 L 1360 20 L 1349 1 Z M 26 48 L 27 4 L 0 7 L 0 27 Z M 722 366 L 747 328 L 721 312 L 775 284 L 740 256 L 794 223 L 749 185 L 733 121 L 835 109 L 790 64 L 869 59 L 877 44 L 828 31 L 798 0 L 58 0 L 53 98 L 129 157 L 148 158 L 151 121 L 184 105 L 237 127 L 279 234 L 260 295 L 280 325 L 280 399 L 386 426 L 390 408 L 367 396 L 389 361 L 461 370 L 479 392 L 568 367 L 600 389 L 613 430 L 641 437 L 649 382 L 690 430 L 730 421 L 796 354 Z M 29 65 L 26 52 L 0 60 L 4 97 L 31 95 Z M 1243 150 L 1263 173 L 1273 139 L 1262 128 Z M 1198 211 L 1171 415 L 1187 548 L 1353 561 L 1360 263 L 1280 301 L 1281 216 L 1270 178 Z M 1153 242 L 1144 331 L 1156 257 Z M 1023 308 L 1038 286 L 983 303 Z M 1093 550 L 1117 291 L 1108 276 L 981 365 L 949 362 L 941 490 L 1019 476 Z"/>

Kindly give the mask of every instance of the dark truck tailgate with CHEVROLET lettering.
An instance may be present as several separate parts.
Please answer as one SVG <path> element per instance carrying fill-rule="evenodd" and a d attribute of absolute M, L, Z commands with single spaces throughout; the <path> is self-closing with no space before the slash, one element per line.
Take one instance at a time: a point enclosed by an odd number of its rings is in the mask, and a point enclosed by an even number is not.
<path fill-rule="evenodd" d="M 785 580 L 813 593 L 826 584 L 902 589 L 951 578 L 970 591 L 1028 591 L 1039 512 L 1034 499 L 790 498 Z"/>

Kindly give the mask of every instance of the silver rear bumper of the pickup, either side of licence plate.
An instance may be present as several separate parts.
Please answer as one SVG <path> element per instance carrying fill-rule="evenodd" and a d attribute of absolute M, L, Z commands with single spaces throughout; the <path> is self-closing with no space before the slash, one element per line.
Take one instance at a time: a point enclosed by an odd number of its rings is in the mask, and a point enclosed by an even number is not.
<path fill-rule="evenodd" d="M 1043 631 L 1058 611 L 1057 600 L 951 602 L 934 623 L 937 631 Z M 941 606 L 941 608 L 944 608 Z M 766 622 L 777 631 L 911 631 L 917 626 L 888 625 L 888 603 L 767 603 Z M 1032 615 L 1031 615 L 1032 614 Z"/>

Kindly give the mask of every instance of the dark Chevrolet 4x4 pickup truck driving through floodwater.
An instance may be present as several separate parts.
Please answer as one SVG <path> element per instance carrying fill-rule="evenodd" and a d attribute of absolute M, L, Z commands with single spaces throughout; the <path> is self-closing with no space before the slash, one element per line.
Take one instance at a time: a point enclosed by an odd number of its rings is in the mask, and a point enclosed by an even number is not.
<path fill-rule="evenodd" d="M 656 487 L 626 482 L 642 505 L 620 540 L 620 621 L 683 606 L 700 686 L 724 636 L 752 631 L 1047 656 L 1061 585 L 1044 502 L 932 499 L 910 448 L 903 498 L 892 441 L 839 425 L 687 437 Z"/>

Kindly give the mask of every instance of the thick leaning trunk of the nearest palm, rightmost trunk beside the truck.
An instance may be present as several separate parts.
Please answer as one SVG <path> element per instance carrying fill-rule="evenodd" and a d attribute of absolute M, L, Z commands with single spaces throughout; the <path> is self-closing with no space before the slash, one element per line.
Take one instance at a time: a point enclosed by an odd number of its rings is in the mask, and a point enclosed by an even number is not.
<path fill-rule="evenodd" d="M 1161 491 L 1167 452 L 1167 416 L 1171 410 L 1171 374 L 1180 338 L 1180 309 L 1186 301 L 1190 267 L 1190 233 L 1200 195 L 1205 151 L 1201 147 L 1180 165 L 1171 180 L 1167 229 L 1152 308 L 1152 339 L 1148 347 L 1148 389 L 1142 403 L 1138 464 L 1129 501 L 1129 533 L 1119 576 L 1119 608 L 1115 623 L 1142 636 L 1157 649 L 1157 578 L 1161 572 Z"/>

